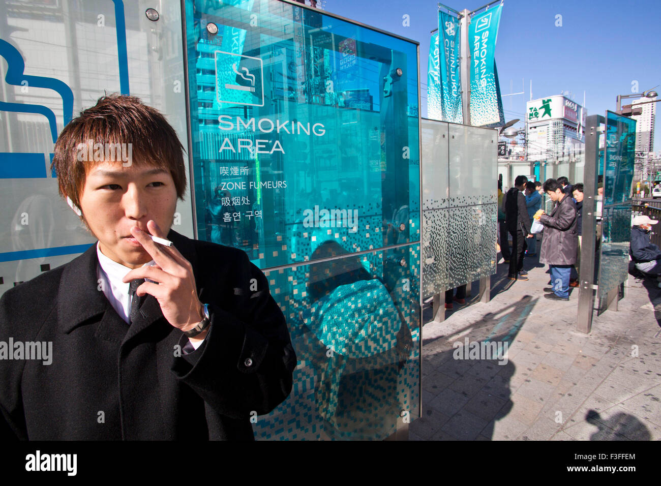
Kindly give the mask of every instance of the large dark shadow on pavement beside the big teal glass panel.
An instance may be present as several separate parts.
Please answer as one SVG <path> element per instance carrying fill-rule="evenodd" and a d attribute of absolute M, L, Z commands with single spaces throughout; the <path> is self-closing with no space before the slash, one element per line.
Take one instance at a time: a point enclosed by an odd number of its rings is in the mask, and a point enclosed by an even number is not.
<path fill-rule="evenodd" d="M 411 424 L 412 434 L 424 440 L 492 439 L 496 423 L 514 405 L 510 380 L 516 366 L 504 350 L 536 303 L 524 296 L 452 335 L 424 342 L 422 417 Z M 488 359 L 498 344 L 502 354 Z"/>

